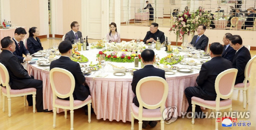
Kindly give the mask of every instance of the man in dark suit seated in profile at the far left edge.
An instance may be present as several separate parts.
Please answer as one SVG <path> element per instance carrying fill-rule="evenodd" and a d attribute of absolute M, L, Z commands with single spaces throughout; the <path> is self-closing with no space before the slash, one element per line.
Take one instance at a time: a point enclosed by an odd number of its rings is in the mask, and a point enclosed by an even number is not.
<path fill-rule="evenodd" d="M 43 82 L 29 76 L 28 72 L 20 64 L 20 61 L 13 52 L 16 45 L 11 37 L 4 37 L 1 40 L 3 52 L 0 54 L 0 62 L 7 68 L 10 81 L 9 85 L 12 89 L 36 88 L 36 109 L 37 112 L 49 112 L 43 107 Z M 32 95 L 27 96 L 29 106 L 33 105 Z"/>

